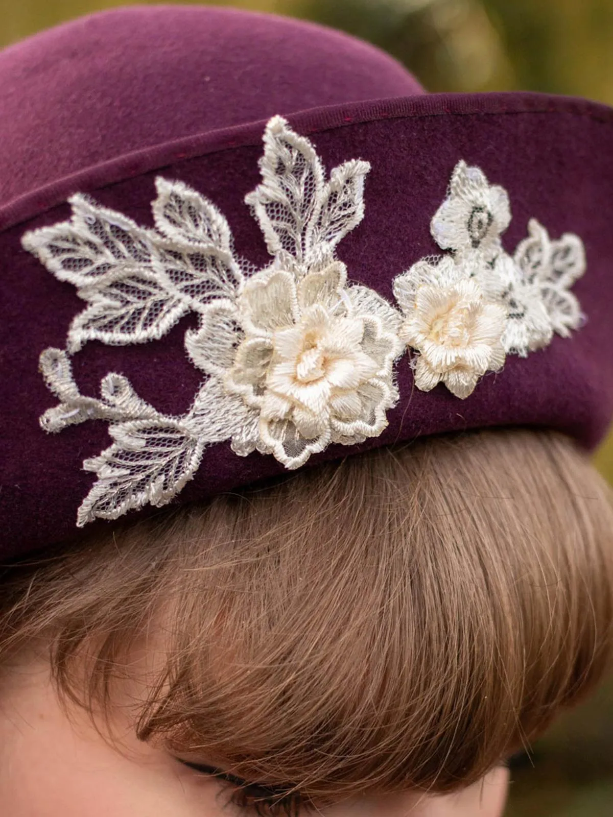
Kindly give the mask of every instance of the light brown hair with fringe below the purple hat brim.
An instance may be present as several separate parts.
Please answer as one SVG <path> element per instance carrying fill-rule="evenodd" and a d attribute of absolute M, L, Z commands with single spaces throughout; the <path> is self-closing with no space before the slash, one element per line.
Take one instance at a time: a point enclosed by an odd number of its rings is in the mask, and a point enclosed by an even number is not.
<path fill-rule="evenodd" d="M 310 797 L 448 791 L 602 676 L 612 538 L 566 436 L 425 438 L 6 569 L 0 664 L 48 635 L 60 693 L 108 712 L 155 630 L 141 739 Z"/>

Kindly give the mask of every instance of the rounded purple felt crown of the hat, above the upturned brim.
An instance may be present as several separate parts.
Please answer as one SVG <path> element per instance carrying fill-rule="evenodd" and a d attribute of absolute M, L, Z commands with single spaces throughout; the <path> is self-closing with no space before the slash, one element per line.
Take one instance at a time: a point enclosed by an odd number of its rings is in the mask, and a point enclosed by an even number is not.
<path fill-rule="evenodd" d="M 383 51 L 319 25 L 208 7 L 105 11 L 0 53 L 0 207 L 186 136 L 422 93 Z"/>

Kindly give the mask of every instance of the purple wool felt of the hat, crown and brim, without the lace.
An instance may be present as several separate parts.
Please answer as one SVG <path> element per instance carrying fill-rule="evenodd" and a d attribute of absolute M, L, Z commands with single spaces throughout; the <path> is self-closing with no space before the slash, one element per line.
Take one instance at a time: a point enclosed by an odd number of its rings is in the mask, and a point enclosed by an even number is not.
<path fill-rule="evenodd" d="M 254 42 L 249 33 L 257 26 L 262 35 Z M 181 38 L 192 33 L 183 52 Z M 290 33 L 293 46 L 286 42 Z M 34 40 L 44 47 L 34 47 Z M 570 338 L 554 336 L 546 349 L 526 359 L 508 356 L 503 370 L 485 375 L 466 400 L 442 385 L 418 391 L 405 356 L 397 364 L 400 401 L 387 412 L 383 434 L 351 449 L 330 446 L 309 463 L 485 426 L 553 428 L 587 450 L 602 440 L 613 415 L 611 109 L 538 94 L 426 95 L 404 69 L 363 43 L 327 29 L 235 11 L 115 11 L 34 40 L 8 49 L 0 59 L 0 76 L 7 78 L 0 87 L 8 82 L 9 97 L 29 100 L 28 123 L 27 118 L 11 123 L 2 115 L 0 126 L 2 145 L 6 131 L 9 146 L 0 176 L 0 366 L 6 435 L 0 556 L 24 556 L 77 533 L 76 510 L 94 479 L 82 470 L 83 459 L 110 444 L 105 422 L 71 426 L 58 435 L 46 434 L 38 425 L 38 417 L 56 402 L 38 373 L 38 355 L 48 346 L 65 345 L 67 328 L 83 302 L 72 285 L 58 282 L 21 248 L 21 236 L 69 218 L 65 199 L 76 191 L 151 226 L 154 179 L 163 176 L 184 181 L 211 199 L 229 221 L 239 255 L 265 266 L 270 257 L 244 196 L 260 181 L 262 133 L 275 113 L 286 114 L 294 131 L 309 136 L 328 170 L 349 158 L 371 163 L 364 220 L 343 239 L 338 257 L 352 281 L 388 301 L 393 300 L 396 275 L 424 256 L 440 254 L 430 219 L 461 158 L 508 190 L 512 222 L 503 244 L 509 252 L 536 217 L 553 237 L 578 234 L 587 255 L 587 271 L 573 292 L 588 320 Z M 71 110 L 66 120 L 56 110 L 62 105 L 62 83 L 52 66 L 73 40 L 69 53 L 87 66 L 66 92 Z M 91 47 L 94 41 L 97 49 Z M 129 57 L 123 54 L 128 43 Z M 132 92 L 120 87 L 114 58 L 101 59 L 107 44 L 110 55 L 123 54 L 127 60 Z M 281 63 L 276 46 L 284 55 Z M 228 67 L 222 58 L 234 51 Z M 29 60 L 38 66 L 31 73 Z M 53 79 L 45 80 L 45 71 Z M 110 74 L 108 82 L 105 74 Z M 190 83 L 186 75 L 210 81 Z M 113 79 L 119 101 L 105 91 L 113 87 Z M 43 99 L 45 87 L 48 100 Z M 46 118 L 34 118 L 47 101 Z M 96 113 L 97 107 L 105 115 Z M 45 156 L 30 166 L 27 156 L 37 150 Z M 73 358 L 82 393 L 97 395 L 101 378 L 120 372 L 161 412 L 185 412 L 202 380 L 183 346 L 191 325 L 194 315 L 181 319 L 163 340 L 135 346 L 87 343 Z M 283 472 L 271 456 L 241 458 L 229 444 L 213 444 L 174 504 Z"/>

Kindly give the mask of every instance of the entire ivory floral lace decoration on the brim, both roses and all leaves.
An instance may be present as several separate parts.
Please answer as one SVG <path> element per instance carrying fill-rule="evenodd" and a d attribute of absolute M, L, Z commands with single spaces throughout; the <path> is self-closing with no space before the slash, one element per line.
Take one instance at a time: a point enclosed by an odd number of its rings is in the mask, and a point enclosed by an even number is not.
<path fill-rule="evenodd" d="M 415 385 L 443 382 L 468 397 L 505 354 L 526 356 L 553 332 L 568 337 L 583 319 L 569 292 L 584 272 L 581 240 L 549 239 L 538 221 L 508 256 L 508 196 L 460 162 L 432 235 L 449 253 L 418 261 L 394 281 L 398 309 L 347 280 L 338 243 L 364 216 L 367 162 L 334 167 L 326 179 L 311 142 L 280 117 L 264 134 L 262 183 L 245 201 L 272 261 L 262 270 L 237 257 L 230 225 L 215 205 L 179 181 L 156 180 L 154 230 L 77 194 L 72 218 L 26 233 L 56 278 L 87 306 L 66 349 L 47 349 L 40 368 L 59 400 L 45 431 L 86 420 L 110 423 L 113 444 L 83 467 L 96 482 L 78 510 L 82 527 L 146 503 L 162 506 L 190 480 L 208 444 L 272 454 L 301 467 L 329 444 L 377 437 L 399 395 L 394 362 L 409 348 Z M 184 315 L 186 353 L 206 378 L 190 410 L 168 416 L 109 373 L 100 398 L 81 395 L 70 356 L 89 341 L 159 340 Z"/>

